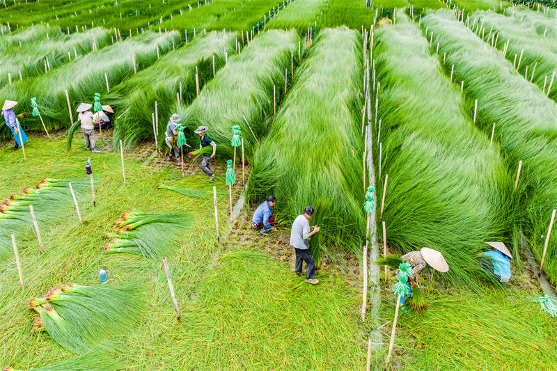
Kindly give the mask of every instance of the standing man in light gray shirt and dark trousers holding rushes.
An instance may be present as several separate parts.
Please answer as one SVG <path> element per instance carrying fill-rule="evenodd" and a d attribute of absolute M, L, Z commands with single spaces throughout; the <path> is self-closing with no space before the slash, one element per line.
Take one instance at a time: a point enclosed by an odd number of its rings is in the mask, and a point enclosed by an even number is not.
<path fill-rule="evenodd" d="M 296 253 L 296 267 L 294 269 L 296 276 L 301 275 L 301 262 L 303 260 L 306 262 L 306 282 L 316 285 L 319 281 L 315 279 L 315 260 L 308 249 L 309 237 L 320 230 L 317 226 L 309 226 L 309 219 L 313 217 L 313 212 L 315 212 L 313 206 L 306 206 L 304 214 L 296 217 L 290 232 L 290 246 L 294 248 Z"/>

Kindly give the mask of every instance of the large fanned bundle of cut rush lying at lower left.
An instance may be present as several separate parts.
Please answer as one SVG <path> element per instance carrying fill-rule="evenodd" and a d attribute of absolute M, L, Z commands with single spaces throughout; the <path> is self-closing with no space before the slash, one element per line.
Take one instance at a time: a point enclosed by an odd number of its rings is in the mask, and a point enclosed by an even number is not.
<path fill-rule="evenodd" d="M 111 333 L 122 333 L 143 311 L 138 285 L 81 286 L 74 283 L 55 287 L 45 297 L 33 297 L 35 310 L 49 336 L 65 349 L 85 354 Z"/>

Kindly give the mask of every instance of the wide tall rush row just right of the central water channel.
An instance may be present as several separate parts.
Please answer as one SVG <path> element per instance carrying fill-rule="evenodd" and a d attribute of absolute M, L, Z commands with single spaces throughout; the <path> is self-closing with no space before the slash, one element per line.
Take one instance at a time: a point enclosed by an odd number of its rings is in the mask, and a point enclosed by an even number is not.
<path fill-rule="evenodd" d="M 375 35 L 383 143 L 377 199 L 389 174 L 383 214 L 389 246 L 441 251 L 450 267 L 442 276 L 474 284 L 487 278 L 476 256 L 485 242 L 509 239 L 510 179 L 496 146 L 464 111 L 460 86 L 450 85 L 428 47 L 403 12 Z M 375 157 L 378 163 L 379 148 Z"/>

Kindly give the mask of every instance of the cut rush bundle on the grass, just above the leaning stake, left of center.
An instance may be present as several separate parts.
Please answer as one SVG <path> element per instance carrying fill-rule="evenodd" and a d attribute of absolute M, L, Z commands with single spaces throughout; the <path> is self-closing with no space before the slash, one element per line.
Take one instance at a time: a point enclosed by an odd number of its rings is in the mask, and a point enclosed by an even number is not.
<path fill-rule="evenodd" d="M 113 232 L 106 235 L 105 253 L 130 253 L 146 258 L 161 258 L 180 247 L 179 238 L 193 220 L 187 212 L 123 213 Z"/>

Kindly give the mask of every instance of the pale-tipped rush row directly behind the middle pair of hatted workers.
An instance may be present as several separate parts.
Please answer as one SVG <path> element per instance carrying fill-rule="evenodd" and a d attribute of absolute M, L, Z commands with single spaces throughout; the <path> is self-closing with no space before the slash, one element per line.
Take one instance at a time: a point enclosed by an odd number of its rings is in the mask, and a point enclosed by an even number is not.
<path fill-rule="evenodd" d="M 217 143 L 217 156 L 230 159 L 233 126 L 239 125 L 244 139 L 246 161 L 251 161 L 253 150 L 262 141 L 269 127 L 268 117 L 273 112 L 273 86 L 276 97 L 284 91 L 285 72 L 291 75 L 291 55 L 298 49 L 299 37 L 292 31 L 268 31 L 253 38 L 237 56 L 230 56 L 228 64 L 205 84 L 200 95 L 189 107 L 173 112 L 182 118 L 190 143 L 198 147 L 199 136 L 193 131 L 199 125 L 209 127 L 207 134 Z M 297 64 L 297 53 L 293 53 Z M 253 130 L 253 134 L 244 120 Z M 187 135 L 188 135 L 187 134 Z"/>

